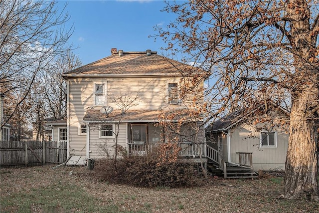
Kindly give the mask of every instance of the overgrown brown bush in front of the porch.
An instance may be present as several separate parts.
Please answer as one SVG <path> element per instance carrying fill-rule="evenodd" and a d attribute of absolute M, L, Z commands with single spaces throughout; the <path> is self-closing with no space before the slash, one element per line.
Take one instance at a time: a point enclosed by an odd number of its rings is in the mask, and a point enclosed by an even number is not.
<path fill-rule="evenodd" d="M 159 150 L 144 156 L 97 161 L 95 174 L 103 181 L 136 187 L 192 187 L 199 183 L 193 164 L 163 161 Z M 160 162 L 160 164 L 159 164 Z"/>

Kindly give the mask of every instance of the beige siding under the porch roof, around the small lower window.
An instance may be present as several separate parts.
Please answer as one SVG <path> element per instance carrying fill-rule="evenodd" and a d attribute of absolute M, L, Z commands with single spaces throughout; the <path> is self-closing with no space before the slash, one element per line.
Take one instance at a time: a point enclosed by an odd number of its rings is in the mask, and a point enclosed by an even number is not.
<path fill-rule="evenodd" d="M 90 149 L 89 158 L 101 159 L 101 158 L 114 158 L 114 146 L 115 146 L 115 136 L 114 138 L 99 138 L 100 130 L 97 128 L 99 124 L 92 124 L 95 127 L 90 127 Z M 126 149 L 127 144 L 127 126 L 126 123 L 121 123 L 119 126 L 119 137 L 118 145 Z M 115 129 L 117 129 L 117 124 L 115 124 Z"/>

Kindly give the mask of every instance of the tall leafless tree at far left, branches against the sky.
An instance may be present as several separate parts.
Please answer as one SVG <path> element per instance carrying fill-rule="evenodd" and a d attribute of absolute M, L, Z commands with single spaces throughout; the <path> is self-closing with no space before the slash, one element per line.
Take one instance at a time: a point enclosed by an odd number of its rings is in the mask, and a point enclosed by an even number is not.
<path fill-rule="evenodd" d="M 20 93 L 1 128 L 25 100 L 38 73 L 70 49 L 68 19 L 56 2 L 0 0 L 0 93 Z"/>

